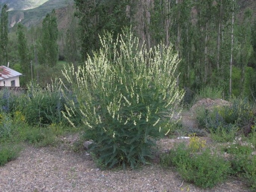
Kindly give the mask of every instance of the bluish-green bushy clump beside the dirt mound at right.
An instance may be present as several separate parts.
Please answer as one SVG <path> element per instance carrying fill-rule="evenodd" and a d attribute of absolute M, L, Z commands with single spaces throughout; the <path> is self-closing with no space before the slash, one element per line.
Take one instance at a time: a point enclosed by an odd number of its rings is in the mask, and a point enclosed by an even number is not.
<path fill-rule="evenodd" d="M 209 111 L 204 107 L 197 109 L 200 128 L 214 134 L 221 134 L 226 139 L 234 139 L 235 134 L 246 136 L 252 131 L 255 115 L 252 105 L 247 100 L 234 100 L 231 106 L 222 106 Z M 228 139 L 228 140 L 229 140 Z"/>

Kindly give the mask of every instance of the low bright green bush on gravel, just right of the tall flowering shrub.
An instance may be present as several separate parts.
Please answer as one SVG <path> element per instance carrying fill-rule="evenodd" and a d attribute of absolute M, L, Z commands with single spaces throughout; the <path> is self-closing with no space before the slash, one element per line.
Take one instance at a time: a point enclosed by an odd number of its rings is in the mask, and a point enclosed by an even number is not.
<path fill-rule="evenodd" d="M 161 157 L 164 167 L 175 167 L 181 177 L 201 188 L 213 188 L 228 176 L 230 164 L 209 149 L 191 153 L 184 144 L 171 149 Z"/>

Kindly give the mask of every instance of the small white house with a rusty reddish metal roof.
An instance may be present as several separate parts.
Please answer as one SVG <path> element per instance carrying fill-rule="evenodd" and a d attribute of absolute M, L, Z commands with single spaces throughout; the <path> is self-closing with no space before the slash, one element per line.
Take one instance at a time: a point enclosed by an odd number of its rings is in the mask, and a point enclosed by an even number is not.
<path fill-rule="evenodd" d="M 19 87 L 19 76 L 22 74 L 7 66 L 0 66 L 0 87 Z"/>

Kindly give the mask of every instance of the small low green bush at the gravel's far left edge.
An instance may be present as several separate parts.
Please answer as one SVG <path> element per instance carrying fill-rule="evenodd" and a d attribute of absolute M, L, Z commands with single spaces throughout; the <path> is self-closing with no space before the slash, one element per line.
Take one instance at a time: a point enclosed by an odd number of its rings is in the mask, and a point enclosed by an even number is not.
<path fill-rule="evenodd" d="M 16 144 L 0 143 L 0 166 L 5 165 L 8 161 L 15 160 L 21 148 Z"/>

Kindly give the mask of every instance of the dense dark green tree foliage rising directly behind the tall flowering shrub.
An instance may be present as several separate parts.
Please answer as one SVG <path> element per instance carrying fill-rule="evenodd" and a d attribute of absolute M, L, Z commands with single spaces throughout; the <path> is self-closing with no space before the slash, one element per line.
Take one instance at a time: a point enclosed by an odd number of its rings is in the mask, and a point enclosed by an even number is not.
<path fill-rule="evenodd" d="M 103 35 L 105 31 L 112 31 L 117 37 L 123 27 L 130 27 L 132 8 L 136 3 L 129 1 L 88 1 L 74 0 L 76 12 L 79 18 L 79 35 L 81 44 L 81 56 L 87 58 L 87 54 L 93 52 L 101 46 L 98 35 Z M 127 7 L 129 7 L 127 9 Z M 130 10 L 129 10 L 130 9 Z M 95 19 L 95 15 L 98 15 Z"/>

